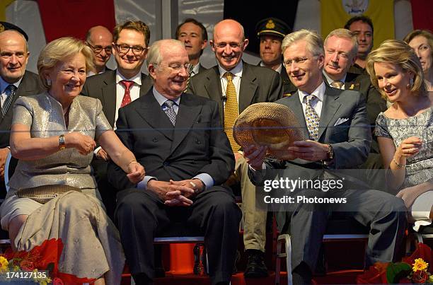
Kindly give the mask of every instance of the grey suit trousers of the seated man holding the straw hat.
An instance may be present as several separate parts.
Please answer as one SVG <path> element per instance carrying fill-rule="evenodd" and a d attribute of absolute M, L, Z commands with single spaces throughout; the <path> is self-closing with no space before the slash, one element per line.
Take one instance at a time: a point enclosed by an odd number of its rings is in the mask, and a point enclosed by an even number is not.
<path fill-rule="evenodd" d="M 321 191 L 304 190 L 297 194 L 306 197 L 329 197 Z M 333 211 L 343 211 L 359 223 L 370 228 L 367 245 L 367 265 L 391 262 L 396 258 L 407 226 L 403 200 L 377 190 L 346 190 L 337 194 L 345 197 L 346 204 L 323 205 L 293 204 L 286 212 L 287 223 L 283 233 L 291 235 L 292 269 L 306 262 L 314 271 L 323 234 Z"/>

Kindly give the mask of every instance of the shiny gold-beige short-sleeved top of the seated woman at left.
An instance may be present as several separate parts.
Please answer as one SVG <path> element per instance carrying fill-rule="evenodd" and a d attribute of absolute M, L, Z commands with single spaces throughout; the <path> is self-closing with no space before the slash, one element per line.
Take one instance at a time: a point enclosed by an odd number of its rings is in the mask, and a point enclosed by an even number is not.
<path fill-rule="evenodd" d="M 13 107 L 13 124 L 17 123 L 28 126 L 30 136 L 38 138 L 81 132 L 97 139 L 111 129 L 100 100 L 81 95 L 71 103 L 68 127 L 64 122 L 62 105 L 48 93 L 18 98 Z M 80 189 L 96 188 L 95 178 L 91 175 L 92 158 L 93 152 L 83 156 L 71 148 L 45 158 L 20 160 L 9 186 L 11 190 L 59 184 Z"/>

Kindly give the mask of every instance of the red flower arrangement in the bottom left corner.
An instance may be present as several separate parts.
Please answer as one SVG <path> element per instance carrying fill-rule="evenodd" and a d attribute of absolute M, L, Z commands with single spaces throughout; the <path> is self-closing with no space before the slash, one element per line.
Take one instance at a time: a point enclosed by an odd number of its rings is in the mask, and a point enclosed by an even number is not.
<path fill-rule="evenodd" d="M 13 252 L 11 248 L 0 255 L 1 281 L 34 281 L 40 285 L 92 283 L 95 279 L 78 278 L 58 271 L 62 240 L 45 240 L 30 251 Z"/>

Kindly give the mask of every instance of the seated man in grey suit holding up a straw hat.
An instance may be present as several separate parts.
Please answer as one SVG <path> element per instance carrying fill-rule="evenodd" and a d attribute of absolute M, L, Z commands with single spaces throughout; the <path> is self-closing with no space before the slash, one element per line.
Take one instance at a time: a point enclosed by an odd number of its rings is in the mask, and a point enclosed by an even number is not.
<path fill-rule="evenodd" d="M 283 180 L 307 181 L 293 192 L 283 192 L 294 202 L 278 208 L 278 226 L 282 233 L 291 235 L 293 283 L 311 284 L 323 234 L 336 211 L 370 228 L 367 265 L 391 262 L 406 226 L 403 201 L 386 192 L 369 190 L 365 182 L 352 176 L 357 165 L 364 163 L 371 143 L 364 95 L 325 85 L 323 41 L 317 33 L 291 33 L 284 37 L 282 50 L 287 72 L 298 91 L 277 103 L 294 112 L 301 132 L 309 139 L 287 147 L 295 158 L 292 161 L 267 160 L 263 165 L 266 146 L 248 146 L 244 155 L 255 185 L 274 180 L 272 169 L 281 170 L 278 175 Z M 350 168 L 355 170 L 351 172 Z M 337 186 L 330 190 L 325 182 Z"/>

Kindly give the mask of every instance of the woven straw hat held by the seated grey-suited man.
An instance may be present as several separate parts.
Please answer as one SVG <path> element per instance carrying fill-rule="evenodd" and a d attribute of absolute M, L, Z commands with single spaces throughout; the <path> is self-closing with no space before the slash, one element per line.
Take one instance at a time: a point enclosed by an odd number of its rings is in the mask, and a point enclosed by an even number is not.
<path fill-rule="evenodd" d="M 277 103 L 256 103 L 238 116 L 233 137 L 243 147 L 258 144 L 268 147 L 268 153 L 279 159 L 294 159 L 287 152 L 294 141 L 305 140 L 294 112 Z"/>

